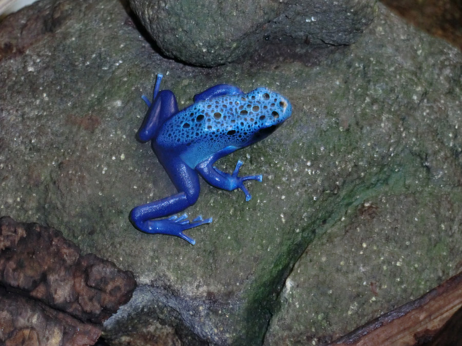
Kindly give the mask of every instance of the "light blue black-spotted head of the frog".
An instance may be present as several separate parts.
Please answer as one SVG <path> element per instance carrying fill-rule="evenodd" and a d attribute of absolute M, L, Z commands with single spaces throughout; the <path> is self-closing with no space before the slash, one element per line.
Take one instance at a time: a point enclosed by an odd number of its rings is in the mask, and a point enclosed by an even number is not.
<path fill-rule="evenodd" d="M 241 106 L 244 107 L 239 115 L 247 120 L 240 123 L 241 133 L 247 137 L 245 146 L 272 134 L 292 114 L 291 103 L 267 88 L 257 88 L 245 94 L 241 98 Z"/>

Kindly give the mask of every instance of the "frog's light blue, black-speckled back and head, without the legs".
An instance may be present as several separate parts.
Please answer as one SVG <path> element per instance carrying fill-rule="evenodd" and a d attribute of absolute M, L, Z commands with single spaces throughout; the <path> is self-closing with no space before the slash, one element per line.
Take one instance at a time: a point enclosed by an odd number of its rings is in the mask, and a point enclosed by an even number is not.
<path fill-rule="evenodd" d="M 202 100 L 165 121 L 157 145 L 187 156 L 187 164 L 195 167 L 221 149 L 254 143 L 256 132 L 285 120 L 288 107 L 287 100 L 266 88 Z"/>

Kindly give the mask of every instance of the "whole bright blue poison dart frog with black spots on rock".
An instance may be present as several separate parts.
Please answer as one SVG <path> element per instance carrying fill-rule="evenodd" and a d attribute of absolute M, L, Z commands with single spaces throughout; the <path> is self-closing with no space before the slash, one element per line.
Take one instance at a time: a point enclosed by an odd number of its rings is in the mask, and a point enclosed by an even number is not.
<path fill-rule="evenodd" d="M 174 93 L 159 91 L 161 79 L 158 74 L 152 103 L 142 96 L 149 109 L 137 136 L 143 143 L 151 141 L 178 193 L 133 208 L 130 221 L 142 232 L 176 235 L 194 245 L 196 241 L 183 232 L 210 223 L 212 218 L 198 216 L 189 221 L 186 214 L 174 214 L 197 201 L 199 175 L 216 188 L 241 189 L 245 200 L 250 200 L 244 181 L 261 181 L 262 176 L 239 177 L 240 160 L 232 174 L 216 168 L 215 161 L 273 133 L 291 116 L 292 106 L 266 88 L 244 94 L 237 87 L 221 84 L 195 95 L 194 103 L 179 111 Z"/>

